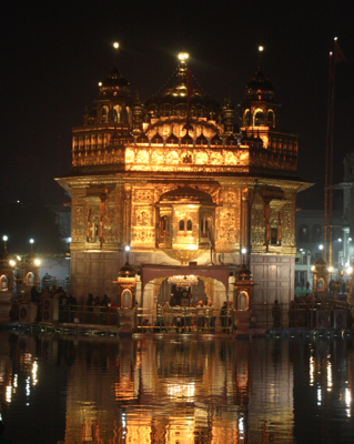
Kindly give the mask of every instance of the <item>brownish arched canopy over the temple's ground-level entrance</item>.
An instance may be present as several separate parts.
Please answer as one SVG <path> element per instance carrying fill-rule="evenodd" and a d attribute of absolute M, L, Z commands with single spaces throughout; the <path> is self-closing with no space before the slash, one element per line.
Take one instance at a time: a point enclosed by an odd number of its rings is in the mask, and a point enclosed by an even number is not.
<path fill-rule="evenodd" d="M 156 278 L 169 278 L 173 275 L 194 274 L 198 276 L 212 278 L 225 285 L 229 294 L 229 275 L 232 269 L 227 265 L 141 265 L 141 296 L 148 282 Z"/>

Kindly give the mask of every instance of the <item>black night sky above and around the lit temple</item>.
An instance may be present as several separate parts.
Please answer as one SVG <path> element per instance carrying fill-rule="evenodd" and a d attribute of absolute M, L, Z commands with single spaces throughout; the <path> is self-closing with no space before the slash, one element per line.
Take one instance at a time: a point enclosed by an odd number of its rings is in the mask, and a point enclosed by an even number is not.
<path fill-rule="evenodd" d="M 350 1 L 7 1 L 1 18 L 0 202 L 68 200 L 53 181 L 71 163 L 71 127 L 82 123 L 98 82 L 119 68 L 142 100 L 166 82 L 176 54 L 219 102 L 242 101 L 257 67 L 282 103 L 279 125 L 300 134 L 299 175 L 316 183 L 302 208 L 323 206 L 328 52 L 336 65 L 334 182 L 353 149 L 354 33 Z"/>

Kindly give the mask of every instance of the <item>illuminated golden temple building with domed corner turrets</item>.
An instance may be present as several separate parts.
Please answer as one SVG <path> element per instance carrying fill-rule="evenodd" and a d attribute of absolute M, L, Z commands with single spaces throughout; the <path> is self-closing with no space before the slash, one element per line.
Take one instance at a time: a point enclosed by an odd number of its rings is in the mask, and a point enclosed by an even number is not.
<path fill-rule="evenodd" d="M 190 261 L 235 268 L 245 249 L 255 301 L 289 302 L 295 198 L 307 184 L 296 176 L 297 137 L 277 129 L 277 109 L 261 68 L 246 87 L 239 129 L 230 100 L 220 107 L 191 89 L 186 54 L 180 54 L 174 85 L 145 103 L 131 99 L 114 63 L 95 109 L 73 128 L 71 172 L 58 179 L 71 193 L 78 300 L 89 292 L 115 300 L 113 281 L 130 245 L 136 269 Z M 220 307 L 225 287 L 202 281 L 204 296 Z M 158 299 L 162 282 L 153 283 L 144 306 Z"/>

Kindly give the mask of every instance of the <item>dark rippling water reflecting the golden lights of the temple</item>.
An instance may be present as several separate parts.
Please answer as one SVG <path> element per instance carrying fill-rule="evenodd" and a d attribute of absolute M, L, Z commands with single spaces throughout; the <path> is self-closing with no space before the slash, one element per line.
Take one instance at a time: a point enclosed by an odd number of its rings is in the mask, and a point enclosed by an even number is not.
<path fill-rule="evenodd" d="M 353 339 L 0 333 L 13 444 L 354 443 Z"/>

